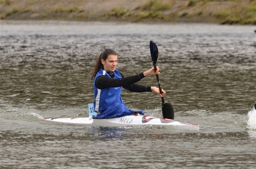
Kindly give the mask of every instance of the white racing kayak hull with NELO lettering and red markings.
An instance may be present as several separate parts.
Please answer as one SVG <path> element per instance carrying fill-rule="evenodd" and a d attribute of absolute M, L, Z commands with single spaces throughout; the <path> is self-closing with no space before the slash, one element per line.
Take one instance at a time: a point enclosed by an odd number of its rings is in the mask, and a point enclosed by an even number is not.
<path fill-rule="evenodd" d="M 93 119 L 92 117 L 77 118 L 44 118 L 45 121 L 82 124 L 85 126 L 122 127 L 122 126 L 145 126 L 158 125 L 171 127 L 175 131 L 199 131 L 199 125 L 192 122 L 176 121 L 165 118 L 142 116 L 140 114 L 118 118 Z"/>

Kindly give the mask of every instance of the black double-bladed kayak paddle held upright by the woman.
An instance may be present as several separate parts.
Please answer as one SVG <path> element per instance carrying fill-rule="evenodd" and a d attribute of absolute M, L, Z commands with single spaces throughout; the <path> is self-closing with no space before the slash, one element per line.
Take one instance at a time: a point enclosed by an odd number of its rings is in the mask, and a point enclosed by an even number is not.
<path fill-rule="evenodd" d="M 156 44 L 153 41 L 150 41 L 150 54 L 153 62 L 153 66 L 156 71 L 156 62 L 158 59 L 158 49 Z M 159 93 L 162 94 L 161 84 L 159 80 L 159 76 L 156 74 L 156 80 L 159 88 Z M 174 108 L 171 103 L 164 102 L 164 97 L 162 99 L 162 113 L 164 118 L 174 119 Z"/>

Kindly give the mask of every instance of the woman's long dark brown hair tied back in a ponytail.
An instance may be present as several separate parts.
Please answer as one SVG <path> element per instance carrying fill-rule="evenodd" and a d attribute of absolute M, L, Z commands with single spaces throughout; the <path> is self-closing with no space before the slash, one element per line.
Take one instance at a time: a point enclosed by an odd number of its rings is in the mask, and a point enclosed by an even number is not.
<path fill-rule="evenodd" d="M 106 61 L 107 56 L 109 55 L 116 55 L 117 53 L 116 51 L 114 51 L 113 49 L 105 49 L 103 52 L 101 52 L 100 56 L 97 58 L 96 60 L 96 64 L 94 66 L 94 69 L 92 70 L 92 80 L 94 79 L 94 77 L 96 76 L 97 72 L 103 68 L 103 65 L 101 63 L 101 59 L 103 59 L 104 61 Z"/>

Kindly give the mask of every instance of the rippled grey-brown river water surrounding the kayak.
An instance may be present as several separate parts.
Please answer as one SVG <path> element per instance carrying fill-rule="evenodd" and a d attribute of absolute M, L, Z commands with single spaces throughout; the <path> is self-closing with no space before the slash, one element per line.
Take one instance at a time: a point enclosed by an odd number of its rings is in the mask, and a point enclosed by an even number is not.
<path fill-rule="evenodd" d="M 255 168 L 256 34 L 251 25 L 0 21 L 0 168 Z M 159 49 L 165 101 L 198 132 L 43 121 L 87 117 L 90 73 L 105 48 L 126 76 Z M 155 77 L 139 82 L 157 85 Z M 154 93 L 123 90 L 129 108 L 161 116 Z"/>

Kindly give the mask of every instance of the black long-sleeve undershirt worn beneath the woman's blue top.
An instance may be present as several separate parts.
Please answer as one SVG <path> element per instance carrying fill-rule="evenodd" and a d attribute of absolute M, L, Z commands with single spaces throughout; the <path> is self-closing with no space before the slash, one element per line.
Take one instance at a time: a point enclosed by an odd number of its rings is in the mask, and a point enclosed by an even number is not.
<path fill-rule="evenodd" d="M 147 92 L 152 91 L 151 86 L 145 86 L 141 84 L 135 84 L 136 82 L 140 81 L 145 76 L 143 73 L 140 73 L 138 75 L 132 75 L 128 77 L 124 77 L 124 75 L 121 74 L 122 78 L 114 79 L 113 72 L 107 72 L 110 76 L 101 75 L 96 79 L 95 85 L 98 89 L 104 89 L 108 87 L 123 87 L 131 92 Z"/>

